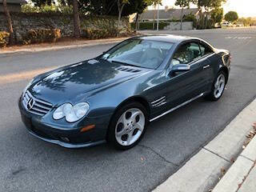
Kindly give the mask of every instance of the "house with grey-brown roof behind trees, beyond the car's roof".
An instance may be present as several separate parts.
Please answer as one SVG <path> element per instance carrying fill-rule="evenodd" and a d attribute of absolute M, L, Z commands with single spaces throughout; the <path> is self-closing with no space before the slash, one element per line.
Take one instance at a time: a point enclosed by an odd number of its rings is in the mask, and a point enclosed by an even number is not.
<path fill-rule="evenodd" d="M 198 16 L 198 9 L 184 9 L 183 17 L 188 14 L 194 14 Z M 181 18 L 182 9 L 165 9 L 159 10 L 159 21 L 170 21 L 170 20 L 179 20 Z M 158 10 L 146 10 L 144 13 L 140 14 L 138 21 L 139 22 L 152 22 L 158 18 Z M 134 18 L 135 21 L 135 18 Z"/>

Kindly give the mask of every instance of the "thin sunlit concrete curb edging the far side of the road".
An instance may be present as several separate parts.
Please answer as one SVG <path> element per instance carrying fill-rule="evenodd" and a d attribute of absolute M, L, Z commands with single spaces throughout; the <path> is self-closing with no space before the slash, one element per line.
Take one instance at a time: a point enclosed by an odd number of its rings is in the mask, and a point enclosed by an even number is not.
<path fill-rule="evenodd" d="M 86 46 L 98 46 L 98 45 L 106 45 L 110 43 L 122 42 L 127 38 L 109 38 L 109 39 L 99 39 L 99 40 L 90 40 L 85 41 L 83 44 L 78 45 L 69 45 L 69 46 L 48 46 L 48 47 L 31 47 L 31 48 L 21 48 L 18 50 L 0 50 L 1 54 L 14 54 L 20 52 L 39 52 L 46 50 L 64 50 L 64 49 L 74 49 L 74 48 L 82 48 Z"/>

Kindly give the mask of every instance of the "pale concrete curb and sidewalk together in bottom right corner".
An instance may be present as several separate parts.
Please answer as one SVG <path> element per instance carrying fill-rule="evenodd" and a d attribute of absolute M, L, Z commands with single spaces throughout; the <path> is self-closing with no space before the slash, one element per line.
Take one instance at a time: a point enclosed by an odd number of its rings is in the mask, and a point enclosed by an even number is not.
<path fill-rule="evenodd" d="M 256 192 L 255 122 L 256 99 L 198 154 L 153 191 Z"/>

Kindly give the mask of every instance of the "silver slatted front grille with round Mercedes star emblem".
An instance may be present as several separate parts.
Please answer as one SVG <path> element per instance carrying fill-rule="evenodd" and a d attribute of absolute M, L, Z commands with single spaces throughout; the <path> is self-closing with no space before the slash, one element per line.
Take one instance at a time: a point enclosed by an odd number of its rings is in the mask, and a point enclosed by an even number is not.
<path fill-rule="evenodd" d="M 37 114 L 39 116 L 43 116 L 47 114 L 52 108 L 52 104 L 50 102 L 42 101 L 41 99 L 34 98 L 30 91 L 26 91 L 22 98 L 22 105 L 32 114 Z"/>

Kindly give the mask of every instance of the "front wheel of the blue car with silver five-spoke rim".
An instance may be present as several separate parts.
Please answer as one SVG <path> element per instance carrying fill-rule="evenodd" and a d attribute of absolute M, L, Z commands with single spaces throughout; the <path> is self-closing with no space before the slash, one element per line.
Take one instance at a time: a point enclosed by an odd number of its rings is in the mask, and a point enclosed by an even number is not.
<path fill-rule="evenodd" d="M 111 118 L 107 141 L 118 150 L 129 150 L 140 142 L 148 122 L 148 112 L 141 103 L 126 104 Z"/>

